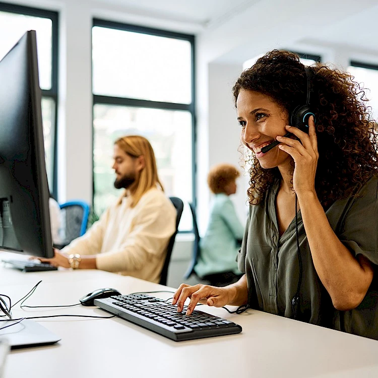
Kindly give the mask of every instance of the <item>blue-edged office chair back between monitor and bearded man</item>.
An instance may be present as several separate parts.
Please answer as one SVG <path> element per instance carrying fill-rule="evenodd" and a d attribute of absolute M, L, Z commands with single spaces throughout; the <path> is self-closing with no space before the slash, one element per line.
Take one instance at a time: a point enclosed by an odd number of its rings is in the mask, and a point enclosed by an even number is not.
<path fill-rule="evenodd" d="M 65 247 L 87 230 L 89 205 L 84 201 L 69 201 L 59 205 L 62 218 L 62 241 L 57 247 Z"/>

